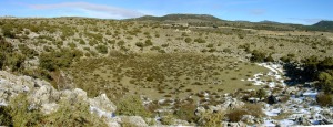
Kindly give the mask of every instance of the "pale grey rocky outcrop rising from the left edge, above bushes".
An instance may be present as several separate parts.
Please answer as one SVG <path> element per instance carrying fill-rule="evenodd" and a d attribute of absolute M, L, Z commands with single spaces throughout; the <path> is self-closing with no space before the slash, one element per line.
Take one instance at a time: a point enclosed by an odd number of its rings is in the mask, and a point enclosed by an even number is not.
<path fill-rule="evenodd" d="M 0 71 L 0 104 L 7 105 L 12 97 L 21 93 L 26 93 L 31 105 L 40 108 L 44 114 L 56 112 L 61 99 L 68 99 L 73 103 L 84 100 L 90 104 L 91 112 L 100 116 L 111 117 L 117 109 L 105 94 L 88 98 L 87 92 L 80 88 L 58 91 L 43 80 L 17 76 Z"/>

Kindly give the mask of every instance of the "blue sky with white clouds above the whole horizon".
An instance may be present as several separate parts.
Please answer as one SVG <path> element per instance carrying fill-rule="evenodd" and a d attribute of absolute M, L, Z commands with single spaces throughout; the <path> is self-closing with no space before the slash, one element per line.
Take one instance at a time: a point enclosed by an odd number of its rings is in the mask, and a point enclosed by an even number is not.
<path fill-rule="evenodd" d="M 127 19 L 169 13 L 212 14 L 224 20 L 313 24 L 333 20 L 333 0 L 1 0 L 0 17 Z"/>

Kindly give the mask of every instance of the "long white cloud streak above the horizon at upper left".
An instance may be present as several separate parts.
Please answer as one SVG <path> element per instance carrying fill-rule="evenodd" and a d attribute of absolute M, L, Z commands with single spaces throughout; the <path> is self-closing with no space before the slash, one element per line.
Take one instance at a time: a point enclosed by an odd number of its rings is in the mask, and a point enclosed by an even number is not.
<path fill-rule="evenodd" d="M 93 4 L 89 2 L 62 2 L 56 4 L 30 4 L 33 9 L 47 10 L 47 9 L 74 9 L 84 13 L 84 15 L 94 18 L 138 18 L 144 15 L 141 12 L 128 10 L 118 7 L 110 7 L 103 4 Z"/>

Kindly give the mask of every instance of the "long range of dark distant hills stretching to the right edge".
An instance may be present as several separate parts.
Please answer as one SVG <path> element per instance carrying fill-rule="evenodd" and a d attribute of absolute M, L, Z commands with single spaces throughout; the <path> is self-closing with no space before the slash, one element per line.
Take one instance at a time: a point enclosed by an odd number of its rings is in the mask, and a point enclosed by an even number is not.
<path fill-rule="evenodd" d="M 272 31 L 326 31 L 333 32 L 333 21 L 320 21 L 313 25 L 281 23 L 270 20 L 260 22 L 250 21 L 228 21 L 221 20 L 210 14 L 167 14 L 163 17 L 144 15 L 134 19 L 127 19 L 128 21 L 151 21 L 151 22 L 163 22 L 163 23 L 189 23 L 190 25 L 196 27 L 213 27 L 213 25 L 225 25 L 234 28 L 246 28 L 256 30 L 272 30 Z"/>

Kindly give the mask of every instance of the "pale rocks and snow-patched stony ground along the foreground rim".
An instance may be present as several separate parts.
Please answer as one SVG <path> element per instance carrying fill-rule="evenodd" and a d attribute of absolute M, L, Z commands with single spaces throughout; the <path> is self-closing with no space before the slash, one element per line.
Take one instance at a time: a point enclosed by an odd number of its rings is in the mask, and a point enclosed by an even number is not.
<path fill-rule="evenodd" d="M 272 71 L 278 70 L 274 68 L 274 66 L 278 65 L 264 65 L 272 67 Z M 266 91 L 269 89 L 270 88 Z M 255 117 L 252 115 L 244 115 L 242 116 L 241 121 L 223 121 L 221 124 L 223 126 L 241 127 L 246 125 L 310 126 L 333 123 L 333 108 L 317 106 L 315 102 L 317 93 L 313 89 L 285 86 L 283 92 L 284 94 L 274 94 L 274 98 L 276 98 L 276 100 L 274 99 L 275 102 L 273 100 L 272 104 L 265 104 L 263 102 L 259 103 L 260 105 L 264 105 L 264 116 Z M 62 105 L 60 102 L 63 99 L 72 102 L 83 100 L 89 104 L 90 113 L 103 118 L 110 127 L 127 125 L 145 127 L 149 126 L 147 123 L 150 123 L 151 126 L 162 126 L 161 118 L 165 117 L 158 116 L 155 118 L 142 118 L 141 116 L 115 116 L 114 112 L 117 110 L 117 106 L 107 97 L 105 94 L 89 98 L 87 97 L 87 93 L 80 88 L 57 91 L 50 83 L 43 80 L 32 78 L 30 76 L 17 76 L 6 71 L 0 71 L 0 105 L 9 106 L 10 100 L 19 94 L 26 94 L 27 99 L 30 102 L 30 106 L 38 108 L 46 115 L 57 112 Z M 279 97 L 282 98 L 285 94 L 291 95 L 291 98 L 285 103 L 280 103 L 278 100 Z M 243 108 L 245 104 L 230 95 L 225 95 L 223 99 L 224 103 L 215 106 L 199 106 L 195 115 L 201 116 L 201 119 L 204 120 L 203 116 L 208 113 L 222 113 L 229 109 Z M 278 118 L 281 114 L 287 115 L 285 117 Z M 213 115 L 211 114 L 210 116 L 212 117 Z M 169 123 L 170 125 L 193 125 L 175 118 L 171 121 L 172 123 Z"/>

